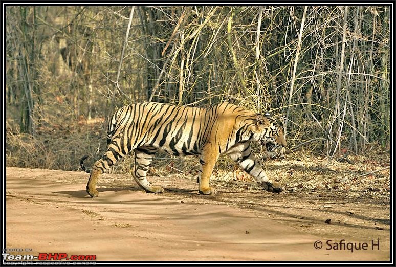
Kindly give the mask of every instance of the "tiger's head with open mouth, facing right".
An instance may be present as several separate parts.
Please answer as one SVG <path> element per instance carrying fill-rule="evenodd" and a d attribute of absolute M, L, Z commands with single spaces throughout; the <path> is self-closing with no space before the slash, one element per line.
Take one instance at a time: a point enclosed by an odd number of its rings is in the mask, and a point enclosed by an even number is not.
<path fill-rule="evenodd" d="M 266 112 L 258 114 L 256 125 L 253 130 L 253 139 L 266 149 L 266 153 L 272 157 L 280 148 L 287 146 L 283 136 L 283 128 Z"/>

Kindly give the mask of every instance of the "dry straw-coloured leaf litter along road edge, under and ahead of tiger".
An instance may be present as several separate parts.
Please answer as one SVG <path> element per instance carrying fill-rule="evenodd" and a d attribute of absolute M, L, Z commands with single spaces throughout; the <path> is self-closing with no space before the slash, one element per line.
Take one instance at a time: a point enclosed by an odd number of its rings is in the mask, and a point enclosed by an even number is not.
<path fill-rule="evenodd" d="M 256 158 L 259 158 L 259 154 L 256 155 Z M 271 179 L 284 184 L 287 191 L 328 190 L 343 192 L 349 197 L 390 196 L 388 152 L 377 150 L 367 153 L 366 156 L 350 155 L 348 160 L 353 164 L 329 160 L 321 155 L 313 155 L 312 152 L 300 151 L 294 155 L 287 155 L 282 160 L 258 160 L 258 163 L 266 170 Z M 179 161 L 180 165 L 185 164 L 182 163 L 183 160 Z M 197 162 L 196 159 L 195 162 Z M 188 161 L 187 164 L 191 163 L 192 161 Z M 178 164 L 174 165 L 178 166 Z M 191 166 L 193 166 L 193 163 Z M 154 168 L 162 169 L 164 167 L 155 166 Z M 195 169 L 197 168 L 196 165 Z M 195 172 L 184 172 L 184 175 L 193 179 L 191 176 L 195 176 Z M 212 180 L 247 181 L 255 184 L 253 177 L 240 170 L 236 164 L 226 157 L 217 162 Z"/>

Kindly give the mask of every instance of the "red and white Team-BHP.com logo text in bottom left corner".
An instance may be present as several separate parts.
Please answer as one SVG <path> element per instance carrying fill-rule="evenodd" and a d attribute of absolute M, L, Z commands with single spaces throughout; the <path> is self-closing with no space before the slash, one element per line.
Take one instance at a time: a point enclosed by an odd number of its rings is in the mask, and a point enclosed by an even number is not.
<path fill-rule="evenodd" d="M 70 255 L 67 253 L 39 253 L 34 255 L 11 255 L 2 253 L 3 260 L 96 260 L 96 255 Z"/>

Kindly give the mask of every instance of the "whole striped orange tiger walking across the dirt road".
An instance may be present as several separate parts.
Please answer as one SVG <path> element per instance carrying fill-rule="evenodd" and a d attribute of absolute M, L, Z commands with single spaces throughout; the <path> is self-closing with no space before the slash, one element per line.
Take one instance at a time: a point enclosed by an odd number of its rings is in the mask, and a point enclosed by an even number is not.
<path fill-rule="evenodd" d="M 146 173 L 157 151 L 170 155 L 199 155 L 200 169 L 197 183 L 203 195 L 216 194 L 209 185 L 213 167 L 220 154 L 227 154 L 255 178 L 258 185 L 268 192 L 285 190 L 256 163 L 251 152 L 251 142 L 265 148 L 266 154 L 287 146 L 282 127 L 268 112 L 259 114 L 223 102 L 210 108 L 178 106 L 157 102 L 129 104 L 119 108 L 108 124 L 107 150 L 95 162 L 90 173 L 86 192 L 97 197 L 96 183 L 99 176 L 131 151 L 135 152 L 135 165 L 131 175 L 146 192 L 163 193 L 160 186 L 151 185 Z"/>

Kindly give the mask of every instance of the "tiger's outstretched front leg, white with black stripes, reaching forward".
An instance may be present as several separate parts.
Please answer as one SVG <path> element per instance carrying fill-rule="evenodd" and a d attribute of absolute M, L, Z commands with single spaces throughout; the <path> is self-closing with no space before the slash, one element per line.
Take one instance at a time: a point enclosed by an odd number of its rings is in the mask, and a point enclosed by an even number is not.
<path fill-rule="evenodd" d="M 240 146 L 234 148 L 234 151 L 231 151 L 229 156 L 237 162 L 244 171 L 252 175 L 257 183 L 268 192 L 280 193 L 285 190 L 284 186 L 268 179 L 266 172 L 256 163 L 256 159 L 251 153 L 249 142 L 240 144 Z"/>

